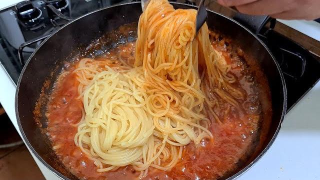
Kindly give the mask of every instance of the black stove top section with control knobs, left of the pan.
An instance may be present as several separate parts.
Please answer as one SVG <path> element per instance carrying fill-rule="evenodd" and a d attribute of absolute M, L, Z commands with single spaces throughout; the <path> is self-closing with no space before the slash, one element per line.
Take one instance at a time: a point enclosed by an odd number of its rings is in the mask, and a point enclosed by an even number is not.
<path fill-rule="evenodd" d="M 16 84 L 25 60 L 43 37 L 67 22 L 47 4 L 53 5 L 66 17 L 76 18 L 101 7 L 130 1 L 133 0 L 31 0 L 1 10 L 0 62 Z M 23 47 L 20 51 L 24 59 L 22 62 L 19 61 L 19 47 Z"/>

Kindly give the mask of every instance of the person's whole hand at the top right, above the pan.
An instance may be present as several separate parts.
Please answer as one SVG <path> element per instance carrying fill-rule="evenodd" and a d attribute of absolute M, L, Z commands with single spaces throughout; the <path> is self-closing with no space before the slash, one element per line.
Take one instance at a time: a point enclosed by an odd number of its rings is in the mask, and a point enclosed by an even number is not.
<path fill-rule="evenodd" d="M 270 15 L 280 19 L 316 19 L 320 17 L 320 0 L 217 0 L 224 6 L 252 15 Z"/>

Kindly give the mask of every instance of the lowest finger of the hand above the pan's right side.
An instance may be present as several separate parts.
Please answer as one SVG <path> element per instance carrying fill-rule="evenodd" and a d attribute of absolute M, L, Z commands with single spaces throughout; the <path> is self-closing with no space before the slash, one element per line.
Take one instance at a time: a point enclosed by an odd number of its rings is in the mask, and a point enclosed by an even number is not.
<path fill-rule="evenodd" d="M 269 15 L 280 13 L 295 8 L 295 0 L 258 0 L 252 3 L 236 6 L 236 8 L 246 14 Z"/>

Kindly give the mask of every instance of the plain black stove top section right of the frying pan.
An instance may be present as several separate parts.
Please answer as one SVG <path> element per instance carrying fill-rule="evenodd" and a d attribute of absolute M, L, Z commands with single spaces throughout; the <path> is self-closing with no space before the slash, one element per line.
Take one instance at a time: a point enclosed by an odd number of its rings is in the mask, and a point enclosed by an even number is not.
<path fill-rule="evenodd" d="M 320 79 L 320 57 L 270 29 L 258 37 L 268 46 L 279 63 L 287 88 L 287 111 Z"/>

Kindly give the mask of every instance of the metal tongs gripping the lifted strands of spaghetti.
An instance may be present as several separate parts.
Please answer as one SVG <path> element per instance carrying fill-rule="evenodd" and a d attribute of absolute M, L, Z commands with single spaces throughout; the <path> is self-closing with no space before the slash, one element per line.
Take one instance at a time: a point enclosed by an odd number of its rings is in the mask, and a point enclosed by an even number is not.
<path fill-rule="evenodd" d="M 142 11 L 144 11 L 144 9 L 148 5 L 149 1 L 150 0 L 141 0 Z M 202 25 L 206 21 L 207 16 L 208 16 L 208 14 L 207 14 L 206 9 L 204 7 L 204 0 L 200 0 L 198 10 L 196 12 L 196 19 L 195 19 L 195 29 L 196 29 L 195 36 L 198 34 L 200 28 L 202 27 Z"/>

